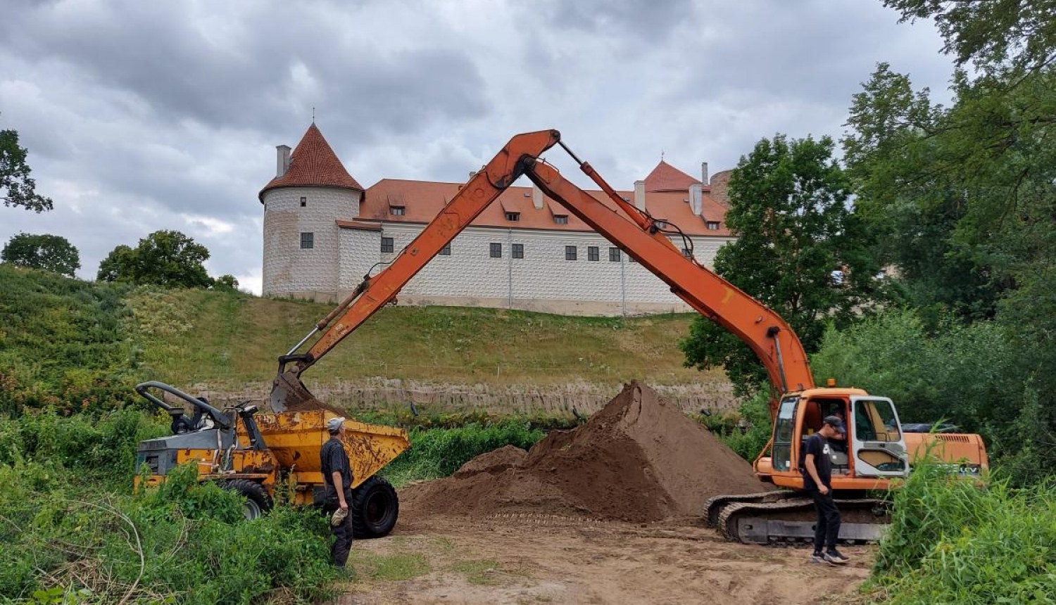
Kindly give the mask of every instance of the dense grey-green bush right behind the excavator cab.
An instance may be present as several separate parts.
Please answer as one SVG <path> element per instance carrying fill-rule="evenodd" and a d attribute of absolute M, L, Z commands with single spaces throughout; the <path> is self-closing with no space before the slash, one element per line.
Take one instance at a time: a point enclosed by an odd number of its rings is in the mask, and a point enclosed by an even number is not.
<path fill-rule="evenodd" d="M 996 322 L 940 322 L 890 310 L 843 332 L 829 329 L 811 358 L 815 376 L 890 397 L 903 422 L 951 421 L 983 436 L 995 467 L 1015 485 L 1056 469 L 1056 414 L 1038 402 L 1033 353 Z M 1036 357 L 1036 355 L 1035 355 Z"/>

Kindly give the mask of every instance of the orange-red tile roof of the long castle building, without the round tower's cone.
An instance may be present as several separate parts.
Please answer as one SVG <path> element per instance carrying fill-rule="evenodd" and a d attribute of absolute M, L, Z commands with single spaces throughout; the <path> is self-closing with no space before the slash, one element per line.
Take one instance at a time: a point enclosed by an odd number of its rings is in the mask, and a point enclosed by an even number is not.
<path fill-rule="evenodd" d="M 436 183 L 429 181 L 400 181 L 382 178 L 363 195 L 359 216 L 361 222 L 385 221 L 392 223 L 428 223 L 458 193 L 460 183 Z M 553 229 L 559 231 L 592 231 L 583 221 L 565 210 L 555 201 L 544 196 L 543 208 L 535 208 L 531 198 L 531 187 L 510 187 L 504 191 L 496 202 L 480 212 L 471 225 L 475 227 L 508 227 L 514 229 Z M 601 191 L 588 191 L 609 208 L 617 209 L 616 204 Z M 634 191 L 618 191 L 629 200 L 634 200 Z M 645 207 L 656 218 L 666 219 L 678 225 L 685 233 L 692 235 L 729 237 L 730 231 L 721 223 L 725 209 L 704 193 L 703 216 L 697 216 L 690 209 L 689 186 L 682 191 L 661 191 L 648 193 L 645 196 Z M 403 206 L 402 215 L 394 215 L 391 206 Z M 506 212 L 520 212 L 520 221 L 507 221 Z M 559 225 L 553 222 L 554 214 L 567 214 L 568 223 Z M 718 221 L 719 229 L 708 229 L 706 222 Z"/>

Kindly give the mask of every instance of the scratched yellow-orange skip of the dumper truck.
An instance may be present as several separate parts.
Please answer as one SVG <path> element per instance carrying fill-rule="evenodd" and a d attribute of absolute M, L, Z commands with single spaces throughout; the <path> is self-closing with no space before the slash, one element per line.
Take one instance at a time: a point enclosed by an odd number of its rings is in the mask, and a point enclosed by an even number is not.
<path fill-rule="evenodd" d="M 336 416 L 331 410 L 317 409 L 261 414 L 256 420 L 264 442 L 282 468 L 296 469 L 301 481 L 322 484 L 319 450 L 329 439 L 326 421 Z M 352 467 L 353 488 L 411 447 L 403 429 L 356 420 L 345 420 L 344 429 L 341 440 Z"/>

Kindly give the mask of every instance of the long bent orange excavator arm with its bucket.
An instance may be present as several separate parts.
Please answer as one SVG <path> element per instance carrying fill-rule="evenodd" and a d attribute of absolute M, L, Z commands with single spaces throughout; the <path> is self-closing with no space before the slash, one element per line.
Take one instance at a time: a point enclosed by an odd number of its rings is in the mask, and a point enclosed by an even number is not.
<path fill-rule="evenodd" d="M 616 210 L 564 178 L 539 156 L 560 144 L 602 191 Z M 798 337 L 772 309 L 713 271 L 689 259 L 668 240 L 668 229 L 647 212 L 626 203 L 589 164 L 581 162 L 555 130 L 518 134 L 458 193 L 396 259 L 364 281 L 329 315 L 316 324 L 289 353 L 279 358 L 271 390 L 276 412 L 320 405 L 300 376 L 338 342 L 396 295 L 440 249 L 517 177 L 526 175 L 549 197 L 634 257 L 671 286 L 672 292 L 698 313 L 737 335 L 758 356 L 770 381 L 780 393 L 814 386 L 807 355 Z M 304 354 L 296 352 L 316 333 L 322 336 Z M 290 368 L 287 366 L 294 363 Z M 776 412 L 771 402 L 771 414 Z"/>

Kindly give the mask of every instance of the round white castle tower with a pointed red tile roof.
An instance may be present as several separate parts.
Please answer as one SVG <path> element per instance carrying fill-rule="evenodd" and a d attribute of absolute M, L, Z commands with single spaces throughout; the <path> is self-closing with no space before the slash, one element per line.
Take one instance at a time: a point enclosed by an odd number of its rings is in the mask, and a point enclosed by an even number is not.
<path fill-rule="evenodd" d="M 315 122 L 290 153 L 280 145 L 264 205 L 264 296 L 333 301 L 338 292 L 338 220 L 359 215 L 363 188 Z"/>

